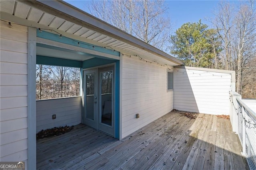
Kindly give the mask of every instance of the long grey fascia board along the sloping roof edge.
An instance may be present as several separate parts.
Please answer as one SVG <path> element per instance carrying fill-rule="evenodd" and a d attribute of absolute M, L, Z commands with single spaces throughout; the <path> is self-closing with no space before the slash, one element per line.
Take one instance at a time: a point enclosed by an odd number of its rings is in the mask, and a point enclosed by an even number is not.
<path fill-rule="evenodd" d="M 145 51 L 148 51 L 154 55 L 167 59 L 178 65 L 184 65 L 184 63 L 171 55 L 157 49 L 156 47 L 139 40 L 138 38 L 68 4 L 59 0 L 18 0 L 29 6 L 33 6 L 39 10 L 52 14 L 54 16 L 63 18 L 75 24 L 84 26 L 88 29 L 99 32 L 100 34 L 108 35 L 116 40 L 128 43 Z"/>

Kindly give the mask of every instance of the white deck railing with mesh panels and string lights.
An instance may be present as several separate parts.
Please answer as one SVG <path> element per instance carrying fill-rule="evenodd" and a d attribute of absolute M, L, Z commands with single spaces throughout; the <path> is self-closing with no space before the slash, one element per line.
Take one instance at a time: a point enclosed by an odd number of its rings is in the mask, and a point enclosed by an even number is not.
<path fill-rule="evenodd" d="M 236 92 L 230 93 L 232 111 L 230 121 L 242 144 L 251 170 L 256 170 L 256 113 L 252 111 Z"/>

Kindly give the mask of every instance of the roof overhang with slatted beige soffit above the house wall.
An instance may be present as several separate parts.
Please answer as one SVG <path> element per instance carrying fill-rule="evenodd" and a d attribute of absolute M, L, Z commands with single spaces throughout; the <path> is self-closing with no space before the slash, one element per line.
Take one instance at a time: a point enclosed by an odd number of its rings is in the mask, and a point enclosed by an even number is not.
<path fill-rule="evenodd" d="M 17 20 L 18 18 L 22 18 L 23 21 L 30 26 L 41 29 L 52 29 L 62 34 L 62 36 L 102 47 L 110 47 L 128 55 L 139 55 L 144 59 L 157 61 L 163 65 L 175 66 L 184 64 L 182 61 L 102 22 L 66 2 L 8 0 L 0 1 L 0 3 L 1 19 L 4 20 L 12 19 L 12 22 L 22 22 L 22 20 Z M 54 6 L 58 6 L 60 9 Z M 67 10 L 63 12 L 64 8 L 72 9 L 74 12 L 80 14 L 80 16 L 86 16 L 87 19 L 90 19 L 89 22 L 95 23 L 90 24 L 78 18 L 74 19 L 76 14 L 70 14 L 72 11 Z M 98 23 L 100 23 L 102 27 L 105 26 L 106 29 L 99 28 L 100 26 L 96 27 Z M 112 30 L 112 32 L 107 29 Z M 116 33 L 114 33 L 115 31 Z"/>

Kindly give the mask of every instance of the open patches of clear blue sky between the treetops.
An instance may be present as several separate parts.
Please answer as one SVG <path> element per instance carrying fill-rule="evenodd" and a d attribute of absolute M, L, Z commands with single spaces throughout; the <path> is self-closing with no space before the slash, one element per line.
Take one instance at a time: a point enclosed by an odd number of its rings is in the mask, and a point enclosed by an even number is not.
<path fill-rule="evenodd" d="M 83 0 L 65 0 L 69 4 L 88 12 Z M 207 18 L 213 17 L 214 9 L 218 7 L 218 0 L 166 0 L 168 13 L 172 22 L 171 32 L 175 32 L 183 24 L 187 22 L 198 22 L 210 25 Z M 229 1 L 234 5 L 238 5 L 239 1 Z"/>

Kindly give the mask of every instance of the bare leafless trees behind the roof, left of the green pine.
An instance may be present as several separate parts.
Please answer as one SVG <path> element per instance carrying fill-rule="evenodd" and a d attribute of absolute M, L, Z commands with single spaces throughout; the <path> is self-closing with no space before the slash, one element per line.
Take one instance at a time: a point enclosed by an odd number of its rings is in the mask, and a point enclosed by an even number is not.
<path fill-rule="evenodd" d="M 86 5 L 92 15 L 154 47 L 167 50 L 170 18 L 164 1 L 93 0 Z"/>

